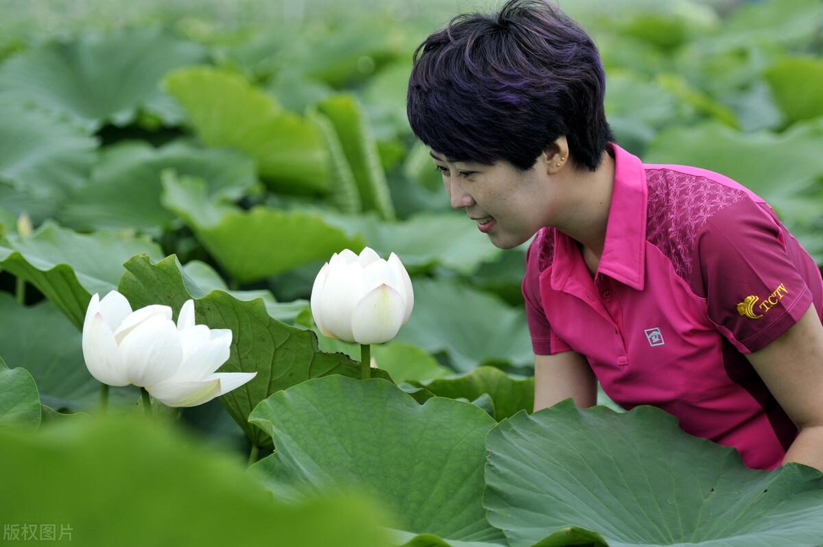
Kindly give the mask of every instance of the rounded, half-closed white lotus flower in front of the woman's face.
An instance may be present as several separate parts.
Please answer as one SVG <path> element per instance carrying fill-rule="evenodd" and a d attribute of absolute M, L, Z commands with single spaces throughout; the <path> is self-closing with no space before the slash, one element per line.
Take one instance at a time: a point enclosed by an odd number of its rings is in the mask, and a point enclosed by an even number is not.
<path fill-rule="evenodd" d="M 311 313 L 323 336 L 380 344 L 397 336 L 414 308 L 412 279 L 394 253 L 349 249 L 323 264 L 311 291 Z"/>

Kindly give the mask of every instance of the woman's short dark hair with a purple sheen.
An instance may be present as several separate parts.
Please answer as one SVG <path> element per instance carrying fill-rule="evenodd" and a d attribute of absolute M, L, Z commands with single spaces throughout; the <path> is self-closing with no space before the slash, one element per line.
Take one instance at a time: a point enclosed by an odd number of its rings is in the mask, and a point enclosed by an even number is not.
<path fill-rule="evenodd" d="M 545 0 L 509 0 L 498 13 L 454 16 L 412 60 L 409 123 L 449 160 L 504 159 L 526 170 L 565 135 L 574 165 L 595 171 L 614 140 L 597 46 Z"/>

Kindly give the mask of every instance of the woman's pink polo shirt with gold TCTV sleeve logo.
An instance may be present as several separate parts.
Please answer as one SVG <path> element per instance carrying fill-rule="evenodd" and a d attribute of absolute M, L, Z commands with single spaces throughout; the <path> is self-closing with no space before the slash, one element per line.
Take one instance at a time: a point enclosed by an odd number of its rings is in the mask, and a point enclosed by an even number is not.
<path fill-rule="evenodd" d="M 528 248 L 534 353 L 577 351 L 626 410 L 658 406 L 686 433 L 736 447 L 746 466 L 774 469 L 797 429 L 744 354 L 811 304 L 823 321 L 820 270 L 732 179 L 610 148 L 616 173 L 594 278 L 557 229 L 542 228 Z"/>

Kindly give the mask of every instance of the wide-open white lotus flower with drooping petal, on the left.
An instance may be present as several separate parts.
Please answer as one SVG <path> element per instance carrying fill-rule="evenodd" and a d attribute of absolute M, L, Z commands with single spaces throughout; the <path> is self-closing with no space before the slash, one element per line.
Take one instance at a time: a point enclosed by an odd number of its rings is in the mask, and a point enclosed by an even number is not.
<path fill-rule="evenodd" d="M 132 312 L 116 290 L 91 297 L 83 322 L 86 368 L 109 386 L 145 387 L 168 406 L 197 406 L 249 382 L 257 373 L 216 373 L 229 359 L 231 331 L 194 324 L 194 302 Z"/>

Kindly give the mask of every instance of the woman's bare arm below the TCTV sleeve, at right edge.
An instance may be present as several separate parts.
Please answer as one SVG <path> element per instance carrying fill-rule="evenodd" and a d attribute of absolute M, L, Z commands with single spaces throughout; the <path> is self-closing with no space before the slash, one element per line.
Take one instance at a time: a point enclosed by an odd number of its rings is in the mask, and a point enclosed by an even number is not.
<path fill-rule="evenodd" d="M 812 305 L 765 348 L 746 355 L 799 429 L 783 463 L 823 471 L 823 324 Z"/>

